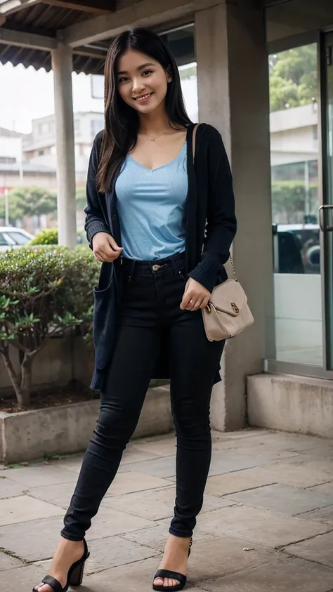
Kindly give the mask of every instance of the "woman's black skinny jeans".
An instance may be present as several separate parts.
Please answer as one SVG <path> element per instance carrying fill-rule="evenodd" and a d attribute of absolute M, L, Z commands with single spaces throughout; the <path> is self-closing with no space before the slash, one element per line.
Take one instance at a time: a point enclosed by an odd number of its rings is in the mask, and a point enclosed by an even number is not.
<path fill-rule="evenodd" d="M 160 267 L 154 270 L 153 266 Z M 191 537 L 211 461 L 209 404 L 223 342 L 209 342 L 202 311 L 181 310 L 184 256 L 124 260 L 124 292 L 100 416 L 86 450 L 61 534 L 81 541 L 115 478 L 145 400 L 166 331 L 171 406 L 176 426 L 176 506 L 170 532 Z M 164 332 L 163 332 L 164 335 Z"/>

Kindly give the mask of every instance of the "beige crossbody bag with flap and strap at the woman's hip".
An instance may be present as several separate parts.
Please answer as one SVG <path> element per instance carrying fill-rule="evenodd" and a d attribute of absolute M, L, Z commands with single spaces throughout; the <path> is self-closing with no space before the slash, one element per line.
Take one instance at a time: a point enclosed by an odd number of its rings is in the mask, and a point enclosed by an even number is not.
<path fill-rule="evenodd" d="M 196 133 L 197 125 L 193 129 L 192 138 L 193 164 L 195 162 Z M 237 281 L 235 265 L 231 255 L 230 263 L 233 268 L 233 278 L 226 279 L 226 282 L 213 289 L 207 308 L 202 310 L 204 330 L 209 341 L 222 341 L 233 337 L 254 322 L 247 304 L 247 295 L 240 282 Z"/>

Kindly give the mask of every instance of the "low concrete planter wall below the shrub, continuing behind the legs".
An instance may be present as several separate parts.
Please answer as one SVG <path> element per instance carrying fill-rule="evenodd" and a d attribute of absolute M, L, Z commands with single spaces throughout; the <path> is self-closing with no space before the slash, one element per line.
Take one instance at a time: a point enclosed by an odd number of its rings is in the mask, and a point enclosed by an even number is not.
<path fill-rule="evenodd" d="M 99 400 L 20 413 L 0 413 L 0 462 L 30 461 L 44 454 L 86 449 L 96 427 Z M 173 429 L 169 386 L 150 388 L 133 438 Z"/>

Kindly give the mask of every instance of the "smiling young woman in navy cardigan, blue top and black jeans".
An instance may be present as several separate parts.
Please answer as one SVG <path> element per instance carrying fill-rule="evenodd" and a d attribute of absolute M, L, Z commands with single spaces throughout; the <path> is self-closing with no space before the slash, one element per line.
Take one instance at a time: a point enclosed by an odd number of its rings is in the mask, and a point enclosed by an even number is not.
<path fill-rule="evenodd" d="M 234 210 L 221 136 L 188 119 L 171 53 L 147 29 L 122 33 L 105 62 L 105 129 L 93 143 L 85 210 L 87 237 L 102 263 L 91 384 L 101 393 L 100 416 L 51 569 L 34 592 L 81 583 L 86 530 L 115 478 L 153 376 L 170 378 L 177 436 L 176 506 L 153 588 L 185 586 L 211 461 L 211 389 L 224 345 L 208 341 L 201 309 L 226 279 Z"/>

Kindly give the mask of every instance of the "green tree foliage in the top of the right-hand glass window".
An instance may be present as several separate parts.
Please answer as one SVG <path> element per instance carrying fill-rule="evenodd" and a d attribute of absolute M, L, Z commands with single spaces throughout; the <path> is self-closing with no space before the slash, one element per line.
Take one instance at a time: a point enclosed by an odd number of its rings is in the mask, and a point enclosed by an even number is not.
<path fill-rule="evenodd" d="M 269 68 L 271 112 L 317 100 L 316 44 L 270 55 Z"/>

